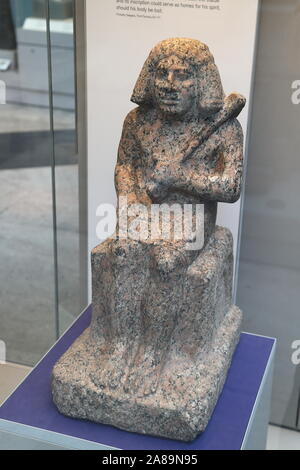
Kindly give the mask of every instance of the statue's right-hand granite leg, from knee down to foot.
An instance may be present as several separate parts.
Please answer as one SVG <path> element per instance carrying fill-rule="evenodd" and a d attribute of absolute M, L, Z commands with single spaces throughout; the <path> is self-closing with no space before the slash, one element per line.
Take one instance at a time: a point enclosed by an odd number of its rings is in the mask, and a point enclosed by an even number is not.
<path fill-rule="evenodd" d="M 128 393 L 145 396 L 156 392 L 183 302 L 181 278 L 187 262 L 182 248 L 152 248 L 147 292 L 141 305 L 142 336 L 125 383 Z"/>

